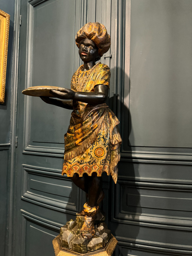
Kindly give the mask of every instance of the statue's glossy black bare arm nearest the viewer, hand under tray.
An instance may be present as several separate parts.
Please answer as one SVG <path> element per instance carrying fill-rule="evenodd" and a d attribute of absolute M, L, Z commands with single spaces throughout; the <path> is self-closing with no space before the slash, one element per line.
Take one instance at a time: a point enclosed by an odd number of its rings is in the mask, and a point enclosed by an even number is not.
<path fill-rule="evenodd" d="M 108 90 L 107 85 L 98 84 L 94 87 L 95 92 L 74 92 L 70 89 L 62 88 L 60 91 L 52 90 L 51 93 L 59 99 L 72 99 L 91 105 L 97 105 L 106 102 Z"/>

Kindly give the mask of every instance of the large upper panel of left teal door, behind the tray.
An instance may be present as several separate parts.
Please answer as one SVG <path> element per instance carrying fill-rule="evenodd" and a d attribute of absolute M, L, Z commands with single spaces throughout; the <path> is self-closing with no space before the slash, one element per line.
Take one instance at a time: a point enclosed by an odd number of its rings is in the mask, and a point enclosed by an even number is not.
<path fill-rule="evenodd" d="M 74 69 L 75 11 L 76 1 L 28 4 L 26 88 L 38 85 L 70 88 Z M 72 33 L 68 33 L 69 30 Z M 70 111 L 50 106 L 35 97 L 27 97 L 26 101 L 25 149 L 41 152 L 48 149 L 62 154 Z"/>

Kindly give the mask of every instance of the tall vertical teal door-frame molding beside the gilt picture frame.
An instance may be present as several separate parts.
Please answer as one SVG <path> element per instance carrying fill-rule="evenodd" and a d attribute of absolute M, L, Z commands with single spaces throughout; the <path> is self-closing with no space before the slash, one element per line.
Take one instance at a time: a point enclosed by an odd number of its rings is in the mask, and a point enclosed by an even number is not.
<path fill-rule="evenodd" d="M 13 60 L 12 60 L 12 81 L 11 81 L 11 153 L 10 153 L 10 180 L 9 180 L 9 208 L 8 208 L 8 230 L 12 230 L 6 236 L 6 255 L 14 254 L 14 234 L 15 225 L 14 213 L 15 213 L 15 162 L 16 162 L 16 152 L 15 152 L 15 137 L 17 130 L 17 91 L 18 91 L 18 74 L 19 74 L 19 38 L 20 38 L 20 0 L 14 1 L 14 34 L 13 34 Z"/>

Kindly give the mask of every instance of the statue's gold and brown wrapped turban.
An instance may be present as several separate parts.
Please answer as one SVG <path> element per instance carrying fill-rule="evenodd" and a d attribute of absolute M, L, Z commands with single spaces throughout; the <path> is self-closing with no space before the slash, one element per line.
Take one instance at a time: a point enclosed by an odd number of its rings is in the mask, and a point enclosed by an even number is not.
<path fill-rule="evenodd" d="M 75 42 L 77 47 L 80 47 L 80 42 L 88 38 L 98 49 L 99 59 L 107 52 L 111 45 L 110 36 L 107 33 L 105 26 L 99 22 L 89 22 L 85 24 L 76 34 Z M 99 60 L 96 59 L 96 60 Z"/>

